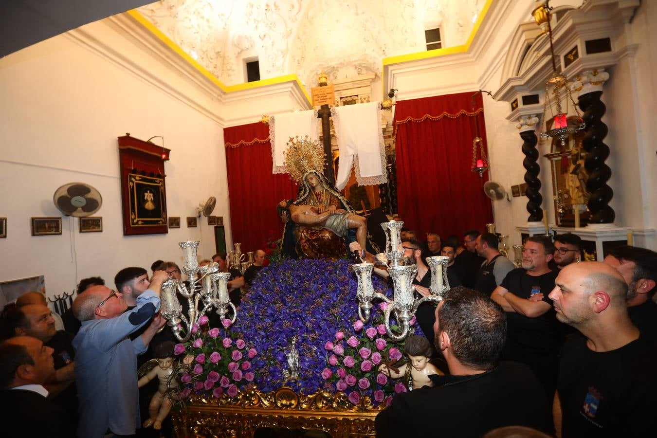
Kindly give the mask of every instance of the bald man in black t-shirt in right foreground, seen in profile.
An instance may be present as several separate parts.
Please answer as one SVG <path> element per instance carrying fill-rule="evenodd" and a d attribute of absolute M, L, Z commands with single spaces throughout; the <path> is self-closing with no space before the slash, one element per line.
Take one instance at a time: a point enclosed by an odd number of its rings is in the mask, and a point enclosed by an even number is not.
<path fill-rule="evenodd" d="M 627 315 L 627 284 L 597 262 L 564 267 L 549 297 L 577 328 L 558 367 L 562 437 L 657 437 L 657 354 Z"/>

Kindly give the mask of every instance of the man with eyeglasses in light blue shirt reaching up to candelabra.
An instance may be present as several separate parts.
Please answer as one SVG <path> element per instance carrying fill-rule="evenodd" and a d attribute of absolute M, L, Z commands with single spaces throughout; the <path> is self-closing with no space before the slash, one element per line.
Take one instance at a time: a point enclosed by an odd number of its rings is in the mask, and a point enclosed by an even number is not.
<path fill-rule="evenodd" d="M 73 339 L 80 437 L 101 438 L 109 432 L 133 435 L 141 424 L 137 355 L 146 351 L 166 322 L 157 312 L 162 283 L 168 278 L 166 272 L 155 271 L 148 289 L 136 297 L 130 311 L 126 294 L 106 286 L 92 286 L 73 302 L 73 313 L 82 323 Z M 151 319 L 141 336 L 129 339 Z"/>

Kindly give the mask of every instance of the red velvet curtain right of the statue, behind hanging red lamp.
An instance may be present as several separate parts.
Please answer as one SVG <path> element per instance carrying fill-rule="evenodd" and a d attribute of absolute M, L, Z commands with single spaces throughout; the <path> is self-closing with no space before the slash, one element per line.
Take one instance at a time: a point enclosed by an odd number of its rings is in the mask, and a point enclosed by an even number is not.
<path fill-rule="evenodd" d="M 473 93 L 397 102 L 398 211 L 420 240 L 426 232 L 438 232 L 443 240 L 449 234 L 461 238 L 466 230 L 483 232 L 493 222 L 483 190 L 487 173 L 481 179 L 470 170 L 476 119 L 486 146 L 482 95 L 473 110 Z"/>

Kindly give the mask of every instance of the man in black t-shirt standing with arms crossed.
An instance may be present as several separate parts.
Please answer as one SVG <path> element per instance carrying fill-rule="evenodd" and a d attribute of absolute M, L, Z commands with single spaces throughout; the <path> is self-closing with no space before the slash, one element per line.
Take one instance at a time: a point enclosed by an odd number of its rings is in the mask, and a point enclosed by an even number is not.
<path fill-rule="evenodd" d="M 555 394 L 559 347 L 555 311 L 547 297 L 555 287 L 556 272 L 547 265 L 554 252 L 555 246 L 548 238 L 528 238 L 522 252 L 522 267 L 510 271 L 491 294 L 507 312 L 505 359 L 532 368 L 550 400 Z"/>

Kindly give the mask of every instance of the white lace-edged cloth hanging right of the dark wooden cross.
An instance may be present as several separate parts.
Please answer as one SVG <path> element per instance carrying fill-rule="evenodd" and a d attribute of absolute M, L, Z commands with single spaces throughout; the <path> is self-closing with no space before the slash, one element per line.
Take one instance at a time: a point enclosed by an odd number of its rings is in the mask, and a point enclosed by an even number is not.
<path fill-rule="evenodd" d="M 347 185 L 354 162 L 359 185 L 386 183 L 386 146 L 380 102 L 337 106 L 331 108 L 331 114 L 340 148 L 340 167 L 335 181 L 338 190 Z"/>

